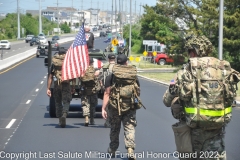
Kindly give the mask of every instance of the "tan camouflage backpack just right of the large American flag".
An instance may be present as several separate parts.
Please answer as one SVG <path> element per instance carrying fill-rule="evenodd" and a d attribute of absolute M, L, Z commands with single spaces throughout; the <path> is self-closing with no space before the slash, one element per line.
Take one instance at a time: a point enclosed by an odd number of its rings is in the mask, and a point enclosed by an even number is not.
<path fill-rule="evenodd" d="M 95 68 L 92 65 L 90 65 L 87 68 L 84 76 L 81 77 L 81 86 L 84 89 L 83 94 L 86 95 L 96 94 L 101 89 L 98 78 L 96 78 L 94 74 Z"/>

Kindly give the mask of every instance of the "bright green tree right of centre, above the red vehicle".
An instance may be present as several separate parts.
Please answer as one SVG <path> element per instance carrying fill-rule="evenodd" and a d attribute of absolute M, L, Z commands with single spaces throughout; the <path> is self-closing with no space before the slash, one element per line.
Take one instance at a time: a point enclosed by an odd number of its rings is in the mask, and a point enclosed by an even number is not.
<path fill-rule="evenodd" d="M 144 6 L 145 14 L 141 19 L 141 36 L 145 40 L 157 40 L 167 45 L 168 53 L 182 54 L 183 41 L 180 30 L 175 24 L 175 10 L 178 6 L 173 1 L 158 3 L 157 6 Z"/>

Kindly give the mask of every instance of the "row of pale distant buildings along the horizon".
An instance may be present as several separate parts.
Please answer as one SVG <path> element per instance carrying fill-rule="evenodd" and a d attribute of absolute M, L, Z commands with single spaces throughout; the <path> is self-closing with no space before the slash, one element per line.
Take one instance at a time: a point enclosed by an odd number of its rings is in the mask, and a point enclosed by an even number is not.
<path fill-rule="evenodd" d="M 33 16 L 39 15 L 39 10 L 26 10 L 26 13 L 30 13 Z M 100 9 L 89 8 L 87 10 L 77 10 L 72 7 L 47 7 L 41 10 L 42 16 L 47 18 L 49 21 L 53 21 L 59 24 L 67 23 L 71 24 L 71 28 L 77 26 L 84 16 L 86 24 L 111 24 L 119 23 L 116 22 L 117 15 L 115 11 L 101 11 Z M 118 14 L 118 13 L 117 13 Z M 129 15 L 122 12 L 122 21 L 129 23 Z M 132 20 L 134 18 L 132 17 Z"/>

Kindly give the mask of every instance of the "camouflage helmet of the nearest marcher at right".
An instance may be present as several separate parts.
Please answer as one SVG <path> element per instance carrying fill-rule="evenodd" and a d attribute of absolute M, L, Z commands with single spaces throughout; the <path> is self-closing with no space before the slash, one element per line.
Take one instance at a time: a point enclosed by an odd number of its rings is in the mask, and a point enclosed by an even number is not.
<path fill-rule="evenodd" d="M 204 57 L 212 52 L 212 43 L 206 36 L 191 34 L 186 37 L 185 48 L 187 50 L 194 49 L 199 57 Z"/>

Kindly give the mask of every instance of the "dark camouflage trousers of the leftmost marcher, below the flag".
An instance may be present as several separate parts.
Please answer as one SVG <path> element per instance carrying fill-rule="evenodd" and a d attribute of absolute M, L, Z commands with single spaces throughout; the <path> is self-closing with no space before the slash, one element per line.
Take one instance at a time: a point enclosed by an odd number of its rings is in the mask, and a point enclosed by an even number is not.
<path fill-rule="evenodd" d="M 70 101 L 72 100 L 71 87 L 69 82 L 62 82 L 58 84 L 54 82 L 54 99 L 56 107 L 56 116 L 61 117 L 63 113 L 69 111 Z"/>

